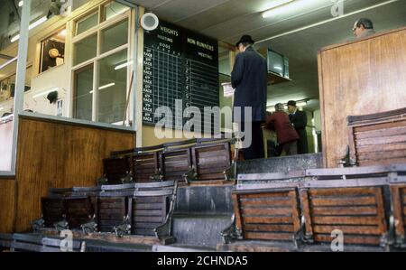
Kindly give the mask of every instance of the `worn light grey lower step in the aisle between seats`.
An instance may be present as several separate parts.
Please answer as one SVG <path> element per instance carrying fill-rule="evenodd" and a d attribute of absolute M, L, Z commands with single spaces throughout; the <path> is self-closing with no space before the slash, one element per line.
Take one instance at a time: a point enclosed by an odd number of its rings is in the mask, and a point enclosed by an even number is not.
<path fill-rule="evenodd" d="M 177 245 L 194 245 L 216 248 L 222 243 L 220 235 L 231 223 L 228 215 L 174 215 L 172 234 Z"/>

